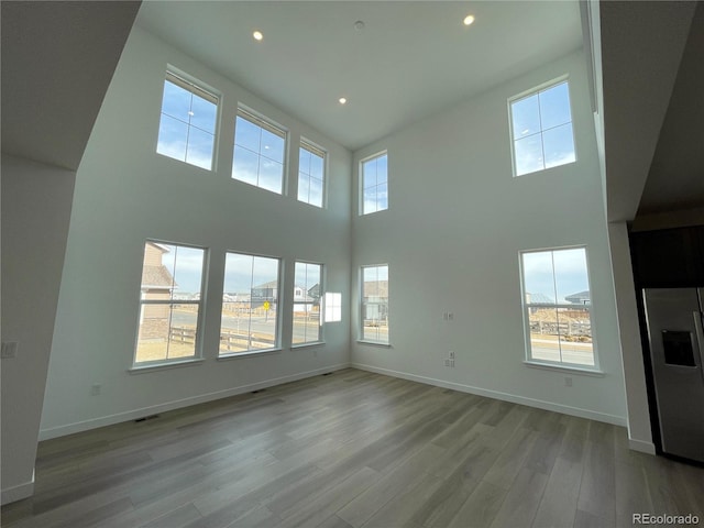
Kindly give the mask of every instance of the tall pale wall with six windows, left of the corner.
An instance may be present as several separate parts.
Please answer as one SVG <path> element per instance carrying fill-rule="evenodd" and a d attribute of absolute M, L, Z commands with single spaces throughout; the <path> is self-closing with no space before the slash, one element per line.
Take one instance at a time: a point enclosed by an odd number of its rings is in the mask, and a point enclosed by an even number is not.
<path fill-rule="evenodd" d="M 217 169 L 157 155 L 167 64 L 222 92 Z M 231 179 L 238 102 L 289 131 L 288 191 L 274 195 Z M 328 209 L 298 202 L 300 135 L 329 153 Z M 246 92 L 135 28 L 106 96 L 76 176 L 42 438 L 122 421 L 158 410 L 273 385 L 349 362 L 349 323 L 328 324 L 326 344 L 290 349 L 292 316 L 283 310 L 283 350 L 217 360 L 226 251 L 327 266 L 327 288 L 349 299 L 351 154 L 304 123 Z M 210 251 L 204 355 L 191 366 L 131 374 L 144 240 Z M 293 292 L 284 293 L 284 307 Z M 344 321 L 349 321 L 344 310 Z M 92 384 L 102 394 L 90 395 Z"/>

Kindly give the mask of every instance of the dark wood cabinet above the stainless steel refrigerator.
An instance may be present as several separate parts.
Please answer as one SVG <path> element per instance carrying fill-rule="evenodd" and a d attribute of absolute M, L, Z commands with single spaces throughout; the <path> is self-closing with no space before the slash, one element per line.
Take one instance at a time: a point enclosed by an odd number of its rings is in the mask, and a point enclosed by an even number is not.
<path fill-rule="evenodd" d="M 630 233 L 636 288 L 704 286 L 704 226 Z"/>

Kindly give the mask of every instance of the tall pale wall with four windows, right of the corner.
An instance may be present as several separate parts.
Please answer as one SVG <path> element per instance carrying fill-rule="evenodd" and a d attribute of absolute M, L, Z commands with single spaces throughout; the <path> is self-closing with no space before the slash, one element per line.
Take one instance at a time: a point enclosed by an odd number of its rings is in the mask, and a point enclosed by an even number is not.
<path fill-rule="evenodd" d="M 579 161 L 514 178 L 507 99 L 563 74 L 570 75 Z M 389 209 L 354 215 L 353 297 L 358 300 L 360 265 L 388 263 L 392 345 L 354 342 L 353 365 L 626 424 L 607 227 L 581 53 L 356 152 L 355 173 L 359 160 L 385 148 Z M 573 244 L 587 246 L 603 377 L 522 363 L 518 253 Z M 454 321 L 442 320 L 444 311 L 454 312 Z M 356 311 L 352 324 L 354 336 Z M 457 353 L 454 369 L 443 365 L 449 350 Z M 565 376 L 573 378 L 572 387 Z"/>

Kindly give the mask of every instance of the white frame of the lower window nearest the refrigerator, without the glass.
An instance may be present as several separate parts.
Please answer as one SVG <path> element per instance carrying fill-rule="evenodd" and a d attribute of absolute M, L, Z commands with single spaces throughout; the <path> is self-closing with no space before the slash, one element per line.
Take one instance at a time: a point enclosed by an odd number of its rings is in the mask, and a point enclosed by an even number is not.
<path fill-rule="evenodd" d="M 526 288 L 526 271 L 524 265 L 524 255 L 530 253 L 551 253 L 554 255 L 556 252 L 560 251 L 569 251 L 569 250 L 583 250 L 584 251 L 584 264 L 586 268 L 586 280 L 587 287 L 590 292 L 590 302 L 585 305 L 579 305 L 580 309 L 586 309 L 590 316 L 590 333 L 592 339 L 592 358 L 594 360 L 593 365 L 586 365 L 583 363 L 571 363 L 565 361 L 550 361 L 540 358 L 535 358 L 532 354 L 532 343 L 530 339 L 530 317 L 529 310 L 530 308 L 549 308 L 549 309 L 575 309 L 574 304 L 565 304 L 558 302 L 559 299 L 556 298 L 556 302 L 528 302 L 527 299 L 527 288 Z M 541 248 L 541 249 L 529 249 L 529 250 L 520 250 L 518 252 L 518 265 L 520 273 L 520 298 L 521 298 L 521 317 L 524 322 L 524 339 L 525 339 L 525 360 L 527 366 L 537 366 L 544 367 L 549 370 L 557 371 L 569 371 L 587 375 L 603 375 L 604 373 L 601 370 L 600 358 L 598 358 L 598 346 L 596 340 L 596 326 L 594 321 L 594 300 L 592 298 L 592 273 L 590 270 L 590 258 L 588 258 L 588 248 L 586 244 L 583 245 L 565 245 L 565 246 L 556 246 L 556 248 Z M 552 280 L 556 280 L 554 267 L 552 270 Z M 558 332 L 560 332 L 560 328 L 558 327 Z M 562 342 L 561 333 L 558 333 L 558 343 Z M 562 358 L 562 352 L 560 351 L 560 356 Z"/>

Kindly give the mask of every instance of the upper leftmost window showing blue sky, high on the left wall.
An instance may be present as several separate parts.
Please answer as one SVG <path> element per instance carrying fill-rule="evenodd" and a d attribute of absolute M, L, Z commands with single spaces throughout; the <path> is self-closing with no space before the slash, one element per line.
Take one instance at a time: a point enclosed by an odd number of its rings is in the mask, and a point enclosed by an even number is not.
<path fill-rule="evenodd" d="M 212 169 L 218 96 L 166 72 L 156 152 Z"/>

